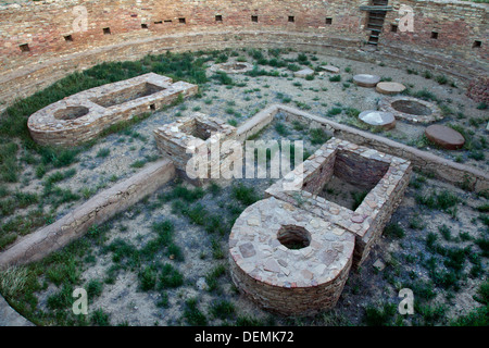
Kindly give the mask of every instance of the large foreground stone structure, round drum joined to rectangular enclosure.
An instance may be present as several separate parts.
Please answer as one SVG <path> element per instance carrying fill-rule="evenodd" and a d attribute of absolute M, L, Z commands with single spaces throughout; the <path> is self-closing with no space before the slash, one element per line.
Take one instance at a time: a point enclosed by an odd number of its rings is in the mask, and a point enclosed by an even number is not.
<path fill-rule="evenodd" d="M 409 184 L 406 160 L 333 138 L 249 207 L 229 236 L 233 278 L 262 307 L 334 307 L 350 266 L 367 258 Z M 319 196 L 333 176 L 369 190 L 352 211 Z"/>

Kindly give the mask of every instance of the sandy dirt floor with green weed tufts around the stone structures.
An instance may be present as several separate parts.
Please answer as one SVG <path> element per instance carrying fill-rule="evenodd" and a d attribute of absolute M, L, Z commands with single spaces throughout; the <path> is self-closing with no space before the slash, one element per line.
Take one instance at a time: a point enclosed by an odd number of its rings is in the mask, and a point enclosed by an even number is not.
<path fill-rule="evenodd" d="M 255 63 L 251 51 L 236 52 L 229 61 Z M 284 52 L 279 59 L 300 65 L 298 55 L 298 52 Z M 268 65 L 260 67 L 276 71 L 278 76 L 229 74 L 233 85 L 211 79 L 200 86 L 201 98 L 156 111 L 131 128 L 109 135 L 79 153 L 75 164 L 58 171 L 61 179 L 52 179 L 57 187 L 70 190 L 77 198 L 45 204 L 41 209 L 51 211 L 50 221 L 54 221 L 92 195 L 131 176 L 146 163 L 160 158 L 153 129 L 195 111 L 239 125 L 266 105 L 280 102 L 368 130 L 352 110 L 375 110 L 384 96 L 351 82 L 353 75 L 361 73 L 402 83 L 410 94 L 429 91 L 446 114 L 440 123 L 462 127 L 471 144 L 460 151 L 437 149 L 423 137 L 425 125 L 404 122 L 379 135 L 488 170 L 487 110 L 478 109 L 455 82 L 439 84 L 435 76 L 424 77 L 422 71 L 400 71 L 384 64 L 313 53 L 306 58 L 313 67 L 325 64 L 340 67 L 341 80 L 331 82 L 334 74 L 328 73 L 317 73 L 311 80 L 297 78 L 287 67 Z M 303 140 L 305 157 L 327 140 L 326 135 L 314 133 L 309 125 L 288 123 L 283 115 L 256 139 L 280 138 Z M 8 184 L 8 189 L 41 192 L 55 172 L 46 173 L 39 179 L 36 167 L 24 163 L 21 183 Z M 26 290 L 5 298 L 27 319 L 41 325 L 443 325 L 481 306 L 475 298 L 487 278 L 487 196 L 464 191 L 426 173 L 415 173 L 385 235 L 365 264 L 352 271 L 335 310 L 315 318 L 280 318 L 262 311 L 240 295 L 230 281 L 227 235 L 240 211 L 261 199 L 272 183 L 272 179 L 218 182 L 203 189 L 185 182 L 168 183 L 104 226 L 98 226 L 100 231 L 89 233 L 79 241 L 84 246 L 79 252 L 28 266 Z M 323 191 L 325 197 L 344 207 L 361 202 L 362 194 L 336 178 Z M 480 208 L 484 206 L 486 210 Z M 20 208 L 4 222 L 28 214 L 33 209 L 33 206 Z M 158 239 L 158 223 L 173 226 L 173 239 L 151 251 L 148 246 Z M 376 261 L 377 265 L 384 265 L 383 270 L 374 266 Z M 48 268 L 49 272 L 40 271 L 41 268 Z M 172 281 L 165 278 L 165 272 L 174 275 L 167 277 Z M 73 275 L 73 282 L 67 285 L 58 282 L 60 274 Z M 89 319 L 74 316 L 66 306 L 70 303 L 67 289 L 76 287 L 92 289 Z M 401 288 L 413 289 L 414 315 L 397 312 Z"/>

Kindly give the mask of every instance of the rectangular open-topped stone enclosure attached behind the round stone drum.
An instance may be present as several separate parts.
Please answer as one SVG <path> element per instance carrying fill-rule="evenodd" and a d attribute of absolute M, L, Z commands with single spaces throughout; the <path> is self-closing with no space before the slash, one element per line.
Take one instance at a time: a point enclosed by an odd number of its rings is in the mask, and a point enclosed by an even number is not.
<path fill-rule="evenodd" d="M 408 160 L 331 138 L 272 185 L 265 196 L 285 200 L 354 234 L 353 263 L 359 266 L 401 202 L 411 172 Z M 318 196 L 334 175 L 368 190 L 354 211 Z"/>

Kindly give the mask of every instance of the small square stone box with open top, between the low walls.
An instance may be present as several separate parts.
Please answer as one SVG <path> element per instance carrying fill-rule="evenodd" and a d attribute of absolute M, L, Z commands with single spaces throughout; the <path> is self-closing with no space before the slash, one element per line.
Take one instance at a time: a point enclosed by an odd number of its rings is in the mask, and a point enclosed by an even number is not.
<path fill-rule="evenodd" d="M 163 156 L 173 161 L 178 174 L 195 185 L 202 185 L 208 178 L 218 176 L 221 163 L 229 153 L 222 153 L 218 159 L 211 156 L 211 149 L 225 140 L 236 138 L 236 128 L 217 117 L 196 112 L 154 130 L 156 146 Z M 189 177 L 187 165 L 195 153 L 205 154 L 208 167 L 204 177 Z"/>

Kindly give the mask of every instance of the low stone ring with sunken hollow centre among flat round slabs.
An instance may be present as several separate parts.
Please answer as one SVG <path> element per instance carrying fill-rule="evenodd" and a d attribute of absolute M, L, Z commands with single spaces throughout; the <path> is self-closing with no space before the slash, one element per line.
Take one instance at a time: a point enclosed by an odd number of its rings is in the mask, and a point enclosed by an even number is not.
<path fill-rule="evenodd" d="M 392 113 L 397 120 L 412 123 L 431 123 L 443 119 L 437 105 L 412 97 L 386 97 L 378 102 L 378 109 Z"/>

